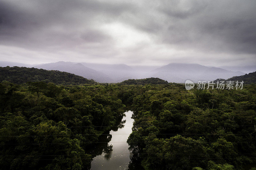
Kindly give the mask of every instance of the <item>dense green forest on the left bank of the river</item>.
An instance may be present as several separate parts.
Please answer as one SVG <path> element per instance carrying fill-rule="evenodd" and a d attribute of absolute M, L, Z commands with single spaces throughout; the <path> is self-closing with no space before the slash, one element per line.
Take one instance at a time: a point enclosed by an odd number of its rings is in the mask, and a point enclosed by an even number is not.
<path fill-rule="evenodd" d="M 89 150 L 123 117 L 124 105 L 104 85 L 0 87 L 1 169 L 90 169 Z"/>

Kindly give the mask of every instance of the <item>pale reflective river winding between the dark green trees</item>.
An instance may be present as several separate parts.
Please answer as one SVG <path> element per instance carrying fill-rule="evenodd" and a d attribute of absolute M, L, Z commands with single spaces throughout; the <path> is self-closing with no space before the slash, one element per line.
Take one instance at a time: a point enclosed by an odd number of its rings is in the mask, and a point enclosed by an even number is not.
<path fill-rule="evenodd" d="M 133 119 L 132 111 L 125 112 L 126 117 L 122 121 L 126 120 L 123 128 L 117 129 L 117 131 L 111 130 L 109 132 L 112 135 L 111 140 L 108 142 L 109 148 L 112 147 L 112 151 L 109 153 L 102 153 L 101 155 L 93 158 L 91 163 L 91 169 L 104 169 L 104 170 L 126 170 L 130 162 L 129 145 L 126 143 L 129 134 L 132 133 Z"/>

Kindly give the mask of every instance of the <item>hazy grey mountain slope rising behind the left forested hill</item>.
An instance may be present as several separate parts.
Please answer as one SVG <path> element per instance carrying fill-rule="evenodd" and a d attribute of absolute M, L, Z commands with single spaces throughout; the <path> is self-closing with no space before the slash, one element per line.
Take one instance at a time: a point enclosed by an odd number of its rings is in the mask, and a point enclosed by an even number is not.
<path fill-rule="evenodd" d="M 83 76 L 87 79 L 93 79 L 94 81 L 100 83 L 110 83 L 113 82 L 106 74 L 93 70 L 91 68 L 85 67 L 81 63 L 72 63 L 60 61 L 57 63 L 47 63 L 35 66 L 36 68 L 45 69 L 45 70 L 59 70 L 69 73 L 76 74 L 78 76 Z"/>

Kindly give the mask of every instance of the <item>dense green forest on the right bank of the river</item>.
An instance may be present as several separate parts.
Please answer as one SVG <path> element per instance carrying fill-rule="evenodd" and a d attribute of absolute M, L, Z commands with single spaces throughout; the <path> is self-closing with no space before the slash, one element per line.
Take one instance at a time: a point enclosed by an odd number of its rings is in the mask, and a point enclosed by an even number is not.
<path fill-rule="evenodd" d="M 123 88 L 133 90 L 130 167 L 233 170 L 256 163 L 255 85 L 242 90 L 187 91 L 178 84 Z"/>

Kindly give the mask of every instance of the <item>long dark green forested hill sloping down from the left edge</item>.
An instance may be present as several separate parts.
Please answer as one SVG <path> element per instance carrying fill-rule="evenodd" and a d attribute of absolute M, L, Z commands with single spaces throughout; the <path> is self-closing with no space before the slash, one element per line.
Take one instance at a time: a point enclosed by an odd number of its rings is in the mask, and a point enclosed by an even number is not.
<path fill-rule="evenodd" d="M 43 70 L 27 67 L 0 67 L 0 82 L 9 81 L 11 83 L 23 84 L 27 82 L 44 81 L 57 85 L 80 85 L 95 84 L 94 80 L 88 80 L 82 76 L 77 76 L 68 72 L 57 70 Z"/>

